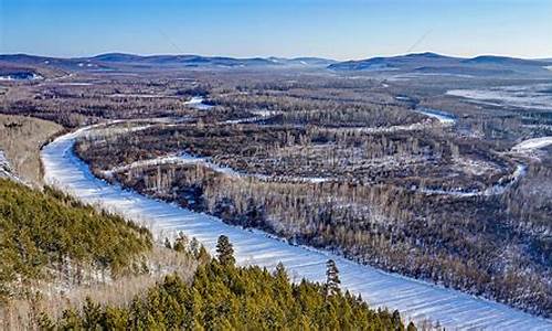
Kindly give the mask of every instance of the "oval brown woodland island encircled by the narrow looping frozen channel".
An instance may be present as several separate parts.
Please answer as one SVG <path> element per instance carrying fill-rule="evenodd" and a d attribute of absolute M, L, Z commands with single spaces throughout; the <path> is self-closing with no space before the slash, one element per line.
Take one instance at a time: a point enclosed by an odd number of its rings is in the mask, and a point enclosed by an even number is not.
<path fill-rule="evenodd" d="M 76 149 L 93 169 L 100 170 L 185 151 L 247 173 L 386 182 L 405 188 L 482 190 L 499 180 L 501 169 L 510 171 L 502 158 L 473 141 L 428 132 L 365 134 L 317 126 L 153 127 L 128 136 L 82 139 Z M 484 166 L 484 171 L 475 174 L 457 164 L 471 159 L 490 167 Z"/>

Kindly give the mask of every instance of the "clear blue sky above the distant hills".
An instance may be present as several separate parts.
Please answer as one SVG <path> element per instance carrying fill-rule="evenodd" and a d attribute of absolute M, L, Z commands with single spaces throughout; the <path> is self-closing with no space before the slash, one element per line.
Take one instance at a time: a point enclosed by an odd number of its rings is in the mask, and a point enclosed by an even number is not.
<path fill-rule="evenodd" d="M 0 53 L 552 57 L 552 0 L 0 0 Z"/>

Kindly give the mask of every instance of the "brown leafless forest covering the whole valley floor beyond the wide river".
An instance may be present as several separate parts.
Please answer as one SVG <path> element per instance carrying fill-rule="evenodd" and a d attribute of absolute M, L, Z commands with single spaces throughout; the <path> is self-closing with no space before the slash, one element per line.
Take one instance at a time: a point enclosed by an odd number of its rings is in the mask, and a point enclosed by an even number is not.
<path fill-rule="evenodd" d="M 74 151 L 114 184 L 551 317 L 551 148 L 512 149 L 550 111 L 447 94 L 492 78 L 388 74 L 82 71 L 2 84 L 0 113 L 103 124 Z"/>

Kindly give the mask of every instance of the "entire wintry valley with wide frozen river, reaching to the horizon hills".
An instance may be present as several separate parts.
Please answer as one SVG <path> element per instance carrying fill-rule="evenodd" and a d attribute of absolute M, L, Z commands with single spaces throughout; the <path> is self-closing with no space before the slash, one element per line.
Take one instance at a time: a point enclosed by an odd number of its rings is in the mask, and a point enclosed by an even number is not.
<path fill-rule="evenodd" d="M 545 63 L 10 56 L 42 78 L 1 82 L 0 111 L 70 132 L 42 147 L 45 182 L 157 242 L 225 234 L 295 281 L 331 258 L 417 324 L 550 328 Z"/>

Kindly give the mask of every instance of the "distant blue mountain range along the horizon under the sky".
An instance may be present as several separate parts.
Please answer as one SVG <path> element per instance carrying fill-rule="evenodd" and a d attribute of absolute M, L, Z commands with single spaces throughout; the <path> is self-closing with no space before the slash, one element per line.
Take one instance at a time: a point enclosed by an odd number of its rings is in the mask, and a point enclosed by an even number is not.
<path fill-rule="evenodd" d="M 337 62 L 322 57 L 251 57 L 236 58 L 201 55 L 135 55 L 106 53 L 91 57 L 60 58 L 26 54 L 0 55 L 6 66 L 54 67 L 66 71 L 116 71 L 125 68 L 318 68 L 333 72 L 400 72 L 414 74 L 505 75 L 545 74 L 552 60 L 523 60 L 484 55 L 473 58 L 416 53 L 390 57 L 371 57 Z"/>

